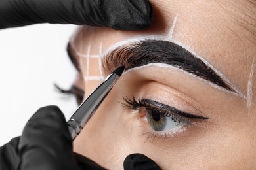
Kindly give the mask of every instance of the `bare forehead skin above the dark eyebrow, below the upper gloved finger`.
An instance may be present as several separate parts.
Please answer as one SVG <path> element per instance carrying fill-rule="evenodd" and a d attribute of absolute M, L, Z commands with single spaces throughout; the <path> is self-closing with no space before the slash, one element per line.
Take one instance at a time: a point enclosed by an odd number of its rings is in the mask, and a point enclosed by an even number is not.
<path fill-rule="evenodd" d="M 256 52 L 251 31 L 239 22 L 244 18 L 244 9 L 251 9 L 247 3 L 204 0 L 150 2 L 155 10 L 155 20 L 150 29 L 115 31 L 105 27 L 80 27 L 72 40 L 76 50 L 85 56 L 102 55 L 119 42 L 160 35 L 192 49 L 242 92 L 246 91 Z"/>

